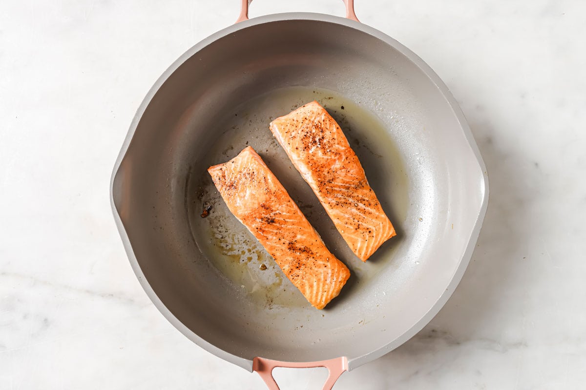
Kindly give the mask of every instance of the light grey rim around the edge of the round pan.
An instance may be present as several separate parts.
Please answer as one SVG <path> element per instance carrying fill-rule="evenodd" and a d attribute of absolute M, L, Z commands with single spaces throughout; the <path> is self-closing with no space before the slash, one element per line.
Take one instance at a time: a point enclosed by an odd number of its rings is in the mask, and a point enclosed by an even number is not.
<path fill-rule="evenodd" d="M 179 332 L 183 333 L 188 339 L 192 340 L 196 343 L 199 347 L 204 348 L 210 353 L 223 358 L 230 363 L 236 364 L 245 370 L 253 371 L 253 361 L 248 360 L 247 358 L 243 358 L 240 356 L 236 356 L 231 354 L 227 351 L 222 350 L 219 347 L 214 346 L 213 344 L 207 342 L 206 340 L 199 337 L 195 332 L 190 330 L 188 327 L 183 325 L 180 320 L 173 315 L 173 313 L 166 308 L 165 304 L 158 298 L 154 289 L 152 289 L 151 285 L 145 278 L 144 273 L 141 270 L 141 267 L 138 263 L 137 258 L 135 257 L 134 251 L 132 250 L 132 246 L 130 240 L 128 239 L 128 235 L 124 226 L 122 225 L 120 215 L 118 214 L 117 206 L 115 205 L 115 178 L 119 172 L 119 168 L 121 165 L 122 160 L 124 159 L 125 155 L 128 151 L 128 146 L 131 143 L 132 137 L 134 136 L 135 131 L 137 130 L 138 124 L 144 115 L 144 112 L 148 108 L 149 104 L 151 103 L 152 98 L 159 91 L 163 84 L 165 84 L 166 80 L 183 64 L 187 61 L 190 57 L 195 55 L 198 51 L 202 50 L 206 46 L 216 42 L 222 37 L 228 36 L 230 34 L 236 33 L 239 30 L 246 29 L 247 27 L 252 27 L 256 25 L 261 25 L 264 23 L 271 23 L 271 22 L 282 22 L 284 20 L 313 20 L 315 22 L 327 22 L 327 23 L 336 23 L 338 25 L 343 25 L 347 27 L 351 27 L 353 29 L 359 30 L 360 32 L 367 33 L 384 43 L 388 44 L 389 46 L 393 47 L 397 51 L 399 51 L 403 56 L 407 57 L 415 66 L 420 68 L 421 72 L 427 76 L 427 78 L 432 82 L 432 84 L 439 89 L 441 95 L 444 97 L 445 101 L 448 103 L 449 107 L 452 110 L 452 114 L 455 116 L 456 120 L 459 123 L 460 129 L 468 143 L 471 147 L 472 153 L 478 162 L 479 168 L 481 168 L 482 175 L 482 202 L 481 207 L 478 211 L 478 216 L 475 220 L 475 225 L 472 229 L 470 234 L 470 238 L 468 241 L 468 246 L 464 252 L 464 256 L 462 256 L 458 266 L 456 267 L 454 274 L 452 275 L 448 286 L 446 287 L 445 291 L 442 295 L 435 301 L 431 308 L 421 316 L 421 318 L 411 326 L 407 332 L 404 332 L 400 337 L 391 341 L 390 343 L 384 344 L 377 348 L 376 350 L 370 351 L 369 353 L 364 354 L 363 356 L 353 357 L 350 358 L 348 361 L 348 369 L 349 371 L 353 370 L 353 368 L 359 367 L 360 365 L 366 364 L 370 361 L 376 360 L 377 358 L 383 356 L 384 354 L 389 353 L 390 351 L 394 350 L 401 344 L 405 343 L 407 340 L 411 339 L 415 334 L 420 332 L 421 329 L 425 325 L 427 325 L 431 319 L 437 315 L 440 309 L 445 305 L 448 301 L 452 293 L 455 291 L 455 288 L 458 286 L 459 282 L 461 281 L 462 277 L 464 276 L 464 272 L 468 267 L 469 261 L 472 257 L 473 249 L 476 245 L 476 241 L 478 240 L 478 236 L 480 233 L 480 229 L 482 226 L 483 219 L 486 214 L 486 209 L 488 207 L 488 194 L 489 194 L 489 182 L 488 182 L 488 174 L 486 173 L 485 163 L 482 160 L 482 156 L 476 144 L 476 141 L 472 135 L 472 132 L 468 126 L 468 122 L 466 122 L 464 113 L 462 112 L 461 108 L 459 107 L 458 103 L 456 102 L 454 96 L 449 91 L 447 85 L 440 79 L 440 77 L 431 69 L 429 65 L 427 65 L 417 54 L 413 53 L 410 49 L 403 44 L 397 42 L 397 40 L 387 36 L 383 32 L 380 32 L 374 27 L 370 27 L 364 25 L 362 23 L 356 22 L 354 20 L 341 18 L 339 16 L 332 16 L 326 15 L 322 13 L 307 13 L 307 12 L 290 12 L 290 13 L 275 13 L 271 15 L 264 15 L 259 16 L 257 18 L 244 20 L 243 22 L 236 23 L 235 25 L 231 25 L 225 27 L 222 30 L 219 30 L 216 33 L 206 37 L 205 39 L 201 40 L 199 43 L 192 46 L 189 50 L 185 51 L 175 62 L 173 62 L 163 73 L 162 75 L 156 80 L 154 85 L 149 89 L 147 95 L 139 105 L 137 112 L 132 119 L 130 128 L 128 130 L 127 136 L 122 143 L 122 147 L 120 153 L 118 154 L 117 160 L 114 164 L 113 172 L 111 174 L 110 180 L 110 204 L 114 214 L 114 220 L 118 227 L 118 231 L 120 233 L 122 243 L 124 244 L 125 251 L 127 253 L 128 259 L 130 260 L 132 270 L 134 271 L 135 275 L 137 276 L 142 288 L 147 293 L 148 297 L 154 303 L 155 307 L 162 313 L 165 318 L 171 322 Z"/>

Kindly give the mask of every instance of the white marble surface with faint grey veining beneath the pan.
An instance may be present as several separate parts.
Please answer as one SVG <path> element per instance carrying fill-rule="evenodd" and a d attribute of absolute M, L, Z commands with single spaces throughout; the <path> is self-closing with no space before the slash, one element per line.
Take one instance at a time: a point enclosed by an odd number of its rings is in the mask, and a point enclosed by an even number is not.
<path fill-rule="evenodd" d="M 237 0 L 0 2 L 0 389 L 261 389 L 155 309 L 108 182 L 135 109 Z M 256 0 L 251 16 L 339 0 Z M 427 61 L 490 175 L 472 262 L 444 309 L 343 389 L 578 389 L 586 381 L 586 6 L 356 1 Z M 280 371 L 282 390 L 322 371 Z"/>

